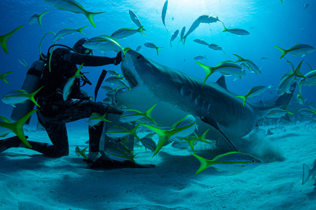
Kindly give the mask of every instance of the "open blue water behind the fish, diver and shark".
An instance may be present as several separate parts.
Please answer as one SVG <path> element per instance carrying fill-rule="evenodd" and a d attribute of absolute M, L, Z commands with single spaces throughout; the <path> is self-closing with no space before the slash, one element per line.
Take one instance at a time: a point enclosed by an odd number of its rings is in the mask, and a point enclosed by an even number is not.
<path fill-rule="evenodd" d="M 18 62 L 22 58 L 29 66 L 39 57 L 39 42 L 47 32 L 59 32 L 65 27 L 80 28 L 85 25 L 89 27 L 84 29 L 86 35 L 75 33 L 67 35 L 64 39 L 58 41 L 59 44 L 65 44 L 70 47 L 80 38 L 92 38 L 101 34 L 111 35 L 117 29 L 122 27 L 134 27 L 136 24 L 131 21 L 128 10 L 134 11 L 141 20 L 144 28 L 147 30 L 147 36 L 141 36 L 137 33 L 126 39 L 120 39 L 123 47 L 136 49 L 142 46 L 141 53 L 154 61 L 165 66 L 180 70 L 190 75 L 204 79 L 203 69 L 196 64 L 194 57 L 197 55 L 206 55 L 207 61 L 200 61 L 208 66 L 216 66 L 219 62 L 226 60 L 236 60 L 234 54 L 239 54 L 244 58 L 251 59 L 259 68 L 262 76 L 247 72 L 243 79 L 233 81 L 233 77 L 226 77 L 227 87 L 236 95 L 245 95 L 249 89 L 255 85 L 273 84 L 277 88 L 280 78 L 289 70 L 291 65 L 286 63 L 285 59 L 279 59 L 280 51 L 273 45 L 288 49 L 299 43 L 309 44 L 316 47 L 316 33 L 314 20 L 316 19 L 315 1 L 284 0 L 283 4 L 279 0 L 274 1 L 250 1 L 250 0 L 195 0 L 195 1 L 168 1 L 168 11 L 166 15 L 166 27 L 162 23 L 161 12 L 164 0 L 159 1 L 87 1 L 81 0 L 80 4 L 88 11 L 103 12 L 95 16 L 96 28 L 94 28 L 88 19 L 82 14 L 75 14 L 68 11 L 51 8 L 42 1 L 17 1 L 2 0 L 0 2 L 0 35 L 12 31 L 19 25 L 24 25 L 8 41 L 10 54 L 4 53 L 0 49 L 0 73 L 15 71 L 7 77 L 11 85 L 0 81 L 0 96 L 2 97 L 10 89 L 19 89 L 25 78 L 26 68 Z M 309 7 L 304 8 L 305 4 Z M 50 10 L 43 16 L 41 27 L 37 22 L 30 25 L 29 19 L 32 15 Z M 159 13 L 157 13 L 156 12 Z M 179 37 L 176 38 L 170 47 L 170 38 L 176 29 L 181 31 L 183 26 L 187 30 L 191 24 L 200 15 L 207 14 L 218 16 L 228 28 L 243 28 L 250 32 L 247 36 L 238 36 L 228 32 L 222 33 L 223 25 L 221 22 L 203 24 L 190 35 L 186 44 L 177 44 Z M 173 20 L 172 20 L 173 18 Z M 210 29 L 212 31 L 210 31 Z M 42 43 L 42 52 L 46 53 L 47 48 L 53 44 L 53 36 L 48 35 Z M 208 43 L 215 43 L 223 48 L 223 51 L 215 51 L 207 46 L 193 42 L 194 39 L 203 39 Z M 144 43 L 152 42 L 156 46 L 165 47 L 160 50 L 157 56 L 154 49 L 146 48 Z M 96 55 L 102 55 L 95 52 Z M 115 52 L 107 52 L 107 56 L 115 56 Z M 297 66 L 302 59 L 305 59 L 313 69 L 316 67 L 316 52 L 307 54 L 303 58 L 300 55 L 287 55 L 286 58 Z M 269 59 L 260 59 L 269 57 Z M 108 65 L 103 67 L 84 67 L 83 72 L 89 72 L 86 76 L 92 81 L 93 85 L 86 85 L 84 89 L 93 96 L 94 87 L 102 69 L 120 71 L 120 66 Z M 309 71 L 308 66 L 303 64 L 301 72 L 306 74 Z M 215 73 L 208 78 L 208 81 L 216 81 L 220 77 Z M 104 85 L 104 83 L 103 83 Z M 306 103 L 315 102 L 315 87 L 303 86 L 303 97 L 307 99 Z M 297 94 L 297 91 L 296 91 Z M 260 99 L 269 99 L 276 96 L 276 91 L 264 93 L 259 97 L 250 99 L 250 101 L 259 101 Z M 295 95 L 296 96 L 296 95 Z M 98 100 L 104 98 L 100 89 Z M 296 97 L 293 97 L 293 103 Z M 1 104 L 1 113 L 9 117 L 12 107 Z M 36 117 L 33 117 L 33 119 Z"/>

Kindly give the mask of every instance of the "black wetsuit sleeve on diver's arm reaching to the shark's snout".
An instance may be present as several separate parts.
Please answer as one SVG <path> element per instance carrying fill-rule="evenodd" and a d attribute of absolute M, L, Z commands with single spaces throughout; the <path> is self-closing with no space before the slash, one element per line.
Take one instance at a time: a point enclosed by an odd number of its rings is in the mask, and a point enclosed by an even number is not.
<path fill-rule="evenodd" d="M 68 54 L 68 59 L 70 58 L 70 62 L 77 65 L 84 66 L 104 66 L 108 64 L 114 64 L 114 57 L 105 57 L 105 56 L 95 56 L 95 55 L 85 55 L 70 51 Z"/>

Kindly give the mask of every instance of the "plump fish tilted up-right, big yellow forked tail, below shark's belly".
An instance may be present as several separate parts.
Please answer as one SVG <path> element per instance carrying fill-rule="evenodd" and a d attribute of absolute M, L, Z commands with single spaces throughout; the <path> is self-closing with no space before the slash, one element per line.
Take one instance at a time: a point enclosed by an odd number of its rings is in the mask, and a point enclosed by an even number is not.
<path fill-rule="evenodd" d="M 156 150 L 153 153 L 153 156 L 155 156 L 171 137 L 187 137 L 192 134 L 196 129 L 196 119 L 193 115 L 188 114 L 176 122 L 170 130 L 164 130 L 150 125 L 143 126 L 155 132 L 159 137 Z"/>

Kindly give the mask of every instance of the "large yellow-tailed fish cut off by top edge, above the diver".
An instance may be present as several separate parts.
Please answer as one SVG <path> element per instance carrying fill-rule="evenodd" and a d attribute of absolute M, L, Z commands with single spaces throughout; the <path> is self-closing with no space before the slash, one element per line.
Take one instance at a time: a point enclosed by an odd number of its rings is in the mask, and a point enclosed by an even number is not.
<path fill-rule="evenodd" d="M 89 12 L 81 4 L 77 3 L 74 0 L 43 0 L 43 2 L 46 5 L 50 7 L 54 7 L 59 10 L 66 10 L 73 13 L 84 14 L 94 27 L 96 27 L 94 23 L 94 15 L 104 13 L 104 12 Z"/>

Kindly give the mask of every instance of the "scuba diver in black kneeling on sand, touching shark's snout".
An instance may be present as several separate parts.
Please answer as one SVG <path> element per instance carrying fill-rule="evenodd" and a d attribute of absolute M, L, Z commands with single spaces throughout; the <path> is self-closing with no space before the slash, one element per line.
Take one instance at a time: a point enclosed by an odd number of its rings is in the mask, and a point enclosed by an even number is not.
<path fill-rule="evenodd" d="M 29 70 L 30 73 L 28 72 L 28 74 L 35 75 L 38 73 L 34 72 L 42 68 L 40 82 L 36 87 L 39 88 L 43 86 L 37 95 L 37 102 L 40 105 L 40 107 L 38 107 L 37 117 L 39 123 L 45 128 L 52 144 L 35 141 L 28 142 L 31 144 L 34 151 L 52 158 L 68 156 L 69 154 L 66 123 L 77 121 L 82 118 L 89 118 L 92 113 L 97 113 L 100 116 L 105 113 L 122 113 L 110 105 L 91 101 L 91 97 L 87 96 L 87 94 L 80 89 L 80 78 L 78 77 L 74 80 L 68 98 L 66 101 L 63 100 L 61 91 L 68 79 L 77 71 L 76 65 L 83 64 L 83 66 L 95 67 L 109 64 L 119 65 L 121 63 L 121 52 L 118 52 L 116 57 L 92 55 L 91 49 L 82 46 L 87 40 L 87 38 L 78 40 L 73 48 L 64 46 L 64 48 L 55 49 L 51 52 L 50 62 L 40 59 L 40 61 L 36 61 L 32 65 L 33 71 L 31 68 Z M 46 57 L 48 58 L 49 54 L 47 54 Z M 50 71 L 49 65 L 51 68 Z M 104 162 L 104 160 L 100 159 L 99 143 L 103 124 L 104 122 L 101 121 L 100 125 L 94 126 L 93 128 L 89 126 L 89 155 L 86 162 L 92 168 L 97 168 L 99 166 L 115 168 L 115 166 L 109 166 L 109 164 L 116 164 L 119 165 L 118 167 L 124 167 L 124 164 L 121 162 Z M 0 142 L 0 152 L 11 147 L 27 148 L 19 138 L 11 137 Z M 126 164 L 127 167 L 141 167 L 141 165 L 135 163 Z M 133 164 L 135 164 L 135 166 Z"/>

